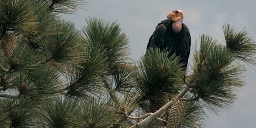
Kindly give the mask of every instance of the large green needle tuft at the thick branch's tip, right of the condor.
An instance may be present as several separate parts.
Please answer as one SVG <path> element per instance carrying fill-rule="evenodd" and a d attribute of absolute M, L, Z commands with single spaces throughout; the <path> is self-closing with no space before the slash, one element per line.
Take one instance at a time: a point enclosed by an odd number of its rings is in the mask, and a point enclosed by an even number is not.
<path fill-rule="evenodd" d="M 192 92 L 214 112 L 230 108 L 235 99 L 234 91 L 244 86 L 240 78 L 244 68 L 233 63 L 232 52 L 209 36 L 202 35 L 200 46 L 194 54 L 192 81 L 195 88 Z"/>

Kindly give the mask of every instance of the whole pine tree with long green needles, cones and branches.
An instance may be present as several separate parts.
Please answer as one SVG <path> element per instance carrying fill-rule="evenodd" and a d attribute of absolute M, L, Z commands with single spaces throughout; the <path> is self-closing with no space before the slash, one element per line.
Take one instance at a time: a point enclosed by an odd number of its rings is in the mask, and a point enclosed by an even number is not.
<path fill-rule="evenodd" d="M 237 61 L 256 64 L 256 43 L 229 24 L 225 46 L 201 36 L 185 77 L 168 51 L 132 62 L 117 22 L 86 18 L 80 31 L 61 18 L 84 5 L 0 0 L 1 128 L 202 128 L 244 86 Z"/>

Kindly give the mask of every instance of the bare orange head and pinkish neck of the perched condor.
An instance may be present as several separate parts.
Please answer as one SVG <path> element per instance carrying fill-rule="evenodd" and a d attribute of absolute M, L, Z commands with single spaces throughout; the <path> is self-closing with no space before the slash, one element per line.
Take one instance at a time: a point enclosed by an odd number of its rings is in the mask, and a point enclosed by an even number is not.
<path fill-rule="evenodd" d="M 182 21 L 184 20 L 182 10 L 174 10 L 167 15 L 167 18 L 172 20 L 172 30 L 178 33 L 182 29 Z"/>

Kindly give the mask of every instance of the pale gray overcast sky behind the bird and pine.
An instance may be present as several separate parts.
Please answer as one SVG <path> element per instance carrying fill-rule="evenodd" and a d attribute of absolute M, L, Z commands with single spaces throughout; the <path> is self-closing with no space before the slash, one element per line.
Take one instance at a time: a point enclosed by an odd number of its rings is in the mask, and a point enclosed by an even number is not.
<path fill-rule="evenodd" d="M 223 42 L 224 23 L 240 29 L 246 26 L 250 36 L 256 40 L 255 5 L 255 0 L 88 0 L 88 11 L 78 10 L 76 15 L 65 15 L 64 18 L 76 23 L 78 29 L 86 25 L 84 19 L 88 16 L 108 22 L 117 21 L 129 38 L 132 58 L 138 59 L 145 53 L 156 25 L 176 9 L 183 11 L 183 23 L 190 29 L 192 52 L 196 40 L 199 44 L 201 34 Z M 205 128 L 255 128 L 255 74 L 255 70 L 247 68 L 244 75 L 246 86 L 238 92 L 232 110 L 221 112 L 219 116 L 208 114 L 210 119 L 207 119 Z"/>

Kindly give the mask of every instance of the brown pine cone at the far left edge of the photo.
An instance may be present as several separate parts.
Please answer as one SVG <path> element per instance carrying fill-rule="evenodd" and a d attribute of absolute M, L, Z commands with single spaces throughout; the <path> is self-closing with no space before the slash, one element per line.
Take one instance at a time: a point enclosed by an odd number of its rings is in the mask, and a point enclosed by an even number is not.
<path fill-rule="evenodd" d="M 14 35 L 8 32 L 2 35 L 1 46 L 4 52 L 4 56 L 6 56 L 6 58 L 12 56 L 12 53 L 16 47 L 16 40 L 14 38 Z"/>

